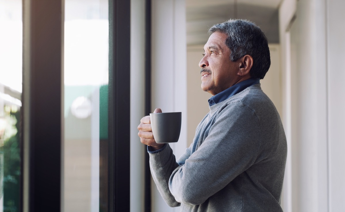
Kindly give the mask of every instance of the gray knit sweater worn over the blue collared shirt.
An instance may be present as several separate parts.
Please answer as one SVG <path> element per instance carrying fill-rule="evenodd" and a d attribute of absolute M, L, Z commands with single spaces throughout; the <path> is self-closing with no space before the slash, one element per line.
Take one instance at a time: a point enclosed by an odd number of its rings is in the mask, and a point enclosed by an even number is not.
<path fill-rule="evenodd" d="M 157 188 L 181 211 L 282 211 L 287 146 L 272 101 L 252 85 L 212 105 L 178 159 L 169 145 L 150 153 Z"/>

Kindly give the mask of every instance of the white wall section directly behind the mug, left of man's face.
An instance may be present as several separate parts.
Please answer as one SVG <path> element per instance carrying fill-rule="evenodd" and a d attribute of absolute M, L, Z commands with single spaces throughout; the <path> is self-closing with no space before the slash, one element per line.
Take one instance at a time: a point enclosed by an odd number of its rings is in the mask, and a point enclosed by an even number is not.
<path fill-rule="evenodd" d="M 152 0 L 152 112 L 182 112 L 180 138 L 170 144 L 176 158 L 187 148 L 185 0 Z M 173 212 L 152 181 L 152 211 Z"/>

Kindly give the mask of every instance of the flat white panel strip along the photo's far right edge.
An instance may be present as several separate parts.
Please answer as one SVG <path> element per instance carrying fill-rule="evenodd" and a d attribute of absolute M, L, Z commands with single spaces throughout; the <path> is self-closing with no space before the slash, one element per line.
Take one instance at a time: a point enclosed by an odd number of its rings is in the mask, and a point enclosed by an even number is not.
<path fill-rule="evenodd" d="M 344 211 L 345 202 L 345 1 L 327 3 L 329 212 Z"/>

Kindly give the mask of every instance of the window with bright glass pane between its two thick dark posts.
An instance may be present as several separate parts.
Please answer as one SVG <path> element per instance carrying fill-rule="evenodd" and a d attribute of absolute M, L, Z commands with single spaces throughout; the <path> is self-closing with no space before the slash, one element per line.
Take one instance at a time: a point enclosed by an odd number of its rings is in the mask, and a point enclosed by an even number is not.
<path fill-rule="evenodd" d="M 23 4 L 24 212 L 129 211 L 130 1 Z"/>

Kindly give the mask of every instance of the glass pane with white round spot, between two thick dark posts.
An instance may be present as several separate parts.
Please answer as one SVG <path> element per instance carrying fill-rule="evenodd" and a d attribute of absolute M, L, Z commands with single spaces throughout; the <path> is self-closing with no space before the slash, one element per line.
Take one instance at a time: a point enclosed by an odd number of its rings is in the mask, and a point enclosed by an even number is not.
<path fill-rule="evenodd" d="M 108 31 L 107 0 L 65 1 L 65 212 L 107 211 Z"/>

